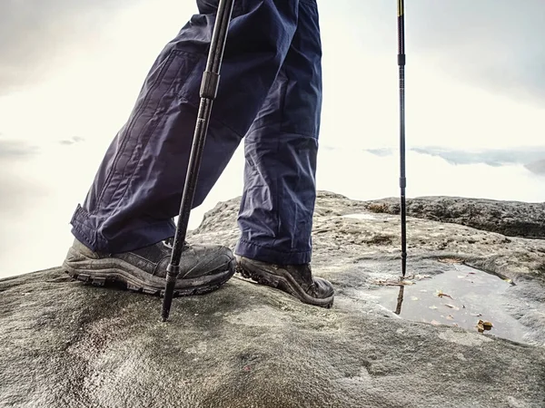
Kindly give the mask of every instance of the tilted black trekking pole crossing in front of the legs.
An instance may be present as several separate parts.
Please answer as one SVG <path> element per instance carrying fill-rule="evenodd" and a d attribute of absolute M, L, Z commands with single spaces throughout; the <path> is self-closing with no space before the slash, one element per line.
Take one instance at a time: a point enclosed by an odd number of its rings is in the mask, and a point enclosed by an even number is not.
<path fill-rule="evenodd" d="M 208 123 L 212 112 L 213 100 L 218 92 L 220 83 L 220 68 L 223 60 L 223 50 L 227 41 L 227 31 L 233 14 L 234 0 L 220 0 L 217 9 L 216 20 L 213 26 L 212 41 L 208 53 L 206 68 L 203 73 L 201 82 L 201 103 L 199 112 L 197 113 L 197 121 L 195 131 L 193 133 L 193 145 L 189 158 L 189 165 L 185 177 L 185 186 L 183 187 L 182 202 L 180 204 L 180 214 L 176 225 L 176 233 L 174 235 L 173 251 L 171 261 L 167 270 L 166 284 L 163 297 L 163 322 L 168 319 L 170 308 L 173 301 L 174 284 L 180 273 L 180 258 L 185 248 L 185 237 L 187 235 L 187 224 L 189 214 L 193 206 L 193 197 L 195 186 L 201 168 L 201 160 L 203 158 L 204 141 L 206 140 L 206 131 L 208 131 Z"/>

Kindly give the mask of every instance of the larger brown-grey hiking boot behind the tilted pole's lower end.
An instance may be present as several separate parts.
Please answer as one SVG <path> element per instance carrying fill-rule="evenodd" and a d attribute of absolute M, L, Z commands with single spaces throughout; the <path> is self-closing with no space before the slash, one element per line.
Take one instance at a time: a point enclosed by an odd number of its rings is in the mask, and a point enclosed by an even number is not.
<path fill-rule="evenodd" d="M 163 295 L 171 242 L 169 239 L 130 252 L 104 254 L 74 239 L 63 267 L 70 277 L 96 286 L 117 282 L 132 291 Z M 201 295 L 233 277 L 235 260 L 231 249 L 221 245 L 193 245 L 183 251 L 180 267 L 173 296 Z"/>

